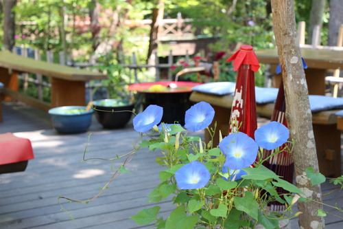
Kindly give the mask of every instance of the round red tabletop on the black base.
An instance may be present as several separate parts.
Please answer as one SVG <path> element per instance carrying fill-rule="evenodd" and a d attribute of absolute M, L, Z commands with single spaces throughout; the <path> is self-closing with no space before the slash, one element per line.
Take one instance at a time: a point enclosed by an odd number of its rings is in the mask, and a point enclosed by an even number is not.
<path fill-rule="evenodd" d="M 176 85 L 176 88 L 172 88 L 173 84 Z M 153 85 L 162 85 L 168 87 L 166 91 L 149 91 L 150 87 Z M 140 93 L 184 93 L 184 92 L 191 92 L 192 87 L 196 85 L 201 85 L 201 83 L 195 82 L 188 82 L 188 81 L 159 81 L 159 82 L 152 82 L 152 83 L 134 83 L 128 86 L 130 91 L 137 91 Z"/>

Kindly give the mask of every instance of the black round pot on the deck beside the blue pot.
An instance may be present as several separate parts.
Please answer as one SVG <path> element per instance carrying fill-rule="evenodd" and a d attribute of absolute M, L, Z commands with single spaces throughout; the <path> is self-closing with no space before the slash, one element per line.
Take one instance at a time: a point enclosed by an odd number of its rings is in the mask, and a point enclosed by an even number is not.
<path fill-rule="evenodd" d="M 113 106 L 113 104 L 117 105 Z M 133 107 L 134 105 L 130 104 L 128 100 L 106 99 L 93 101 L 97 121 L 105 129 L 125 127 L 130 121 Z"/>

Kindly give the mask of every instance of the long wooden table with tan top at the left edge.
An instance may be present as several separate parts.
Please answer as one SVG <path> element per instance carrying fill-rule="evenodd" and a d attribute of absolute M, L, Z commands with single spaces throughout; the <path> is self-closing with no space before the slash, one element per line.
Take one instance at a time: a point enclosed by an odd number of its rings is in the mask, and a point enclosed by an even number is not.
<path fill-rule="evenodd" d="M 51 82 L 51 104 L 29 98 L 18 92 L 17 74 L 28 72 L 48 76 Z M 89 72 L 83 69 L 75 69 L 45 61 L 36 61 L 12 54 L 8 51 L 0 52 L 0 82 L 5 87 L 5 96 L 25 102 L 33 107 L 49 110 L 51 107 L 65 105 L 85 105 L 86 87 L 89 80 L 106 79 L 104 74 Z"/>

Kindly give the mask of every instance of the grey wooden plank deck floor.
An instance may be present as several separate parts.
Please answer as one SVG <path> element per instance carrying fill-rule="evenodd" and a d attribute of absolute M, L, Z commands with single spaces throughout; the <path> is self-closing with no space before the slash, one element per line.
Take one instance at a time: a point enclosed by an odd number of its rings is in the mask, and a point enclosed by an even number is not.
<path fill-rule="evenodd" d="M 261 121 L 263 122 L 263 120 Z M 111 166 L 118 162 L 91 160 L 80 162 L 89 133 L 88 155 L 115 157 L 132 149 L 139 135 L 132 124 L 120 130 L 104 130 L 94 119 L 87 133 L 60 135 L 51 129 L 47 113 L 18 103 L 3 105 L 3 122 L 0 133 L 12 132 L 29 138 L 34 147 L 35 159 L 29 161 L 25 172 L 0 175 L 0 228 L 152 228 L 137 226 L 128 217 L 154 204 L 146 204 L 149 194 L 159 183 L 161 168 L 154 163 L 158 152 L 141 149 L 126 166 L 130 173 L 120 175 L 105 192 L 89 204 L 75 204 L 62 200 L 64 208 L 75 217 L 60 211 L 58 196 L 88 199 L 96 195 L 99 187 L 110 179 Z M 0 149 L 1 150 L 1 149 Z M 322 185 L 322 192 L 333 189 Z M 324 198 L 325 203 L 343 208 L 343 193 L 336 192 Z M 167 201 L 160 204 L 166 217 L 171 210 Z M 327 228 L 343 228 L 342 212 L 326 218 Z M 289 228 L 298 228 L 292 220 Z"/>

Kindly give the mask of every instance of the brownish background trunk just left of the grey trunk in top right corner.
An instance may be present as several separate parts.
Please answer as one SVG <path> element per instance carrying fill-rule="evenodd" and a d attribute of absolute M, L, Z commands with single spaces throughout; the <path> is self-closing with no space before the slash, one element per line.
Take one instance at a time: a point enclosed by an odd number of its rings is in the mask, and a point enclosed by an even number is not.
<path fill-rule="evenodd" d="M 311 12 L 309 14 L 309 40 L 308 44 L 312 43 L 314 39 L 314 27 L 319 25 L 320 30 L 322 29 L 322 14 L 324 14 L 326 0 L 312 0 Z M 320 45 L 320 44 L 318 44 Z"/>

